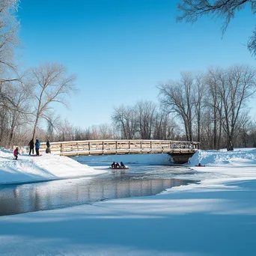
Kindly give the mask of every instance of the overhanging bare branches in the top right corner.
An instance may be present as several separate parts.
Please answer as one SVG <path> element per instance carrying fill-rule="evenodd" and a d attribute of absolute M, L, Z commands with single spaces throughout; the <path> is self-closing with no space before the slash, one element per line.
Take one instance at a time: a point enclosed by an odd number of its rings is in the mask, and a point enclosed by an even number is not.
<path fill-rule="evenodd" d="M 222 35 L 225 33 L 229 22 L 234 18 L 239 10 L 243 10 L 246 5 L 251 7 L 252 13 L 256 13 L 255 0 L 180 0 L 177 5 L 181 12 L 177 16 L 177 21 L 196 22 L 201 16 L 212 16 L 224 19 L 222 25 Z M 249 39 L 248 48 L 252 55 L 256 56 L 256 27 Z"/>

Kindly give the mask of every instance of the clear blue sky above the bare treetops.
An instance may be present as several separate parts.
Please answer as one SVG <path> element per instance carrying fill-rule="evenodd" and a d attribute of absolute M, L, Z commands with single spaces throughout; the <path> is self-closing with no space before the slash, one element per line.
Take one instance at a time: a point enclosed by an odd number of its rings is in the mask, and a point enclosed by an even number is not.
<path fill-rule="evenodd" d="M 77 76 L 70 110 L 79 127 L 111 123 L 114 106 L 157 103 L 156 85 L 180 71 L 255 65 L 246 48 L 255 27 L 249 9 L 237 13 L 222 38 L 222 21 L 177 23 L 176 0 L 21 0 L 22 64 L 60 62 Z"/>

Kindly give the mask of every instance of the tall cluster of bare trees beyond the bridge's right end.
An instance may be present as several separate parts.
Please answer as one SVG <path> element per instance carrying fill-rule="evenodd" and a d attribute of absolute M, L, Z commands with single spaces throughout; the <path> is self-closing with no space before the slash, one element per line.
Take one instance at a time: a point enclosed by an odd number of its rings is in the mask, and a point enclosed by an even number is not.
<path fill-rule="evenodd" d="M 180 119 L 186 140 L 199 141 L 204 148 L 234 150 L 241 132 L 249 137 L 254 127 L 248 103 L 256 90 L 255 72 L 246 65 L 183 72 L 180 80 L 158 85 L 159 100 Z M 248 144 L 246 138 L 243 144 Z"/>

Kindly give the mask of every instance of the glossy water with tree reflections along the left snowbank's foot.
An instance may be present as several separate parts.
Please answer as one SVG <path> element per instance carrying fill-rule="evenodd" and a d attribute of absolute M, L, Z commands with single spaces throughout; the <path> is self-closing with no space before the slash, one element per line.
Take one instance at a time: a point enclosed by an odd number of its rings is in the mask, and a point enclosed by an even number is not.
<path fill-rule="evenodd" d="M 113 198 L 156 195 L 187 180 L 103 175 L 93 179 L 56 180 L 0 187 L 0 216 L 90 204 Z"/>

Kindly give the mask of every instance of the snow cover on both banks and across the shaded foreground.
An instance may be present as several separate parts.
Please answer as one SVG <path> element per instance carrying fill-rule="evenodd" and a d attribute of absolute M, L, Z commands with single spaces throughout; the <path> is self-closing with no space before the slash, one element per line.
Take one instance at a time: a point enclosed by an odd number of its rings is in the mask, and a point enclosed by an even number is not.
<path fill-rule="evenodd" d="M 81 158 L 24 155 L 15 161 L 0 152 L 1 183 L 100 173 L 80 165 Z M 118 157 L 125 163 L 140 157 L 143 163 L 169 161 L 165 154 Z M 195 167 L 198 162 L 206 167 Z M 199 150 L 188 167 L 201 183 L 149 197 L 1 216 L 0 255 L 256 255 L 256 150 Z"/>

